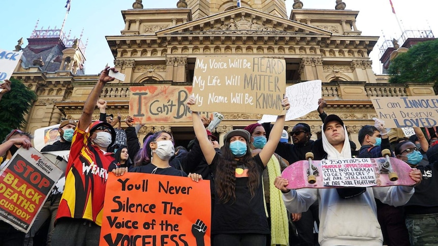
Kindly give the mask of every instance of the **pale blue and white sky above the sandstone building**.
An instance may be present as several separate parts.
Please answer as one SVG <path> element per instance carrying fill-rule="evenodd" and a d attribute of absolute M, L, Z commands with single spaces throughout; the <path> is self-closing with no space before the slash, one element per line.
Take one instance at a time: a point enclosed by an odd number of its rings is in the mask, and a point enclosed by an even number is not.
<path fill-rule="evenodd" d="M 251 0 L 250 0 L 251 1 Z M 13 50 L 17 41 L 23 38 L 24 48 L 27 38 L 35 29 L 60 28 L 66 16 L 67 0 L 41 1 L 2 1 L 3 25 L 0 27 L 2 38 L 0 49 Z M 134 0 L 71 0 L 70 12 L 67 16 L 64 32 L 70 33 L 70 39 L 79 38 L 82 42 L 88 39 L 86 48 L 85 74 L 98 74 L 105 64 L 112 65 L 111 54 L 105 36 L 120 35 L 124 28 L 121 10 L 132 9 Z M 178 0 L 151 1 L 143 0 L 144 9 L 176 8 Z M 237 0 L 235 0 L 237 2 Z M 335 0 L 301 0 L 303 9 L 334 10 Z M 370 54 L 373 71 L 382 73 L 379 61 L 379 44 L 383 40 L 398 39 L 401 30 L 396 17 L 392 13 L 389 0 L 343 0 L 347 10 L 360 11 L 356 26 L 363 36 L 380 37 L 378 45 Z M 397 18 L 403 30 L 428 30 L 438 36 L 438 14 L 430 0 L 392 0 Z M 293 0 L 286 0 L 288 16 L 290 16 Z M 71 31 L 70 31 L 71 30 Z M 385 37 L 385 38 L 384 38 Z M 400 44 L 401 45 L 401 44 Z"/>

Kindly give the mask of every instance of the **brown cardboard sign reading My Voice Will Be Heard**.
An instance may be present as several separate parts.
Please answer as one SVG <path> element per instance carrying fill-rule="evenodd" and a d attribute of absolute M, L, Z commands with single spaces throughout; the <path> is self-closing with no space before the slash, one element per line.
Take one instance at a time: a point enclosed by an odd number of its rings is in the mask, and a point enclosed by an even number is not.
<path fill-rule="evenodd" d="M 260 57 L 198 57 L 194 111 L 285 115 L 286 61 Z"/>

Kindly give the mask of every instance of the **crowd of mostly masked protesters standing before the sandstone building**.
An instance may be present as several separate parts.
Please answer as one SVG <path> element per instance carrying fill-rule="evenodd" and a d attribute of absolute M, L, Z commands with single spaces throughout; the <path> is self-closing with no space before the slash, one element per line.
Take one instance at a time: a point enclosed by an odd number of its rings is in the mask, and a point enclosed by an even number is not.
<path fill-rule="evenodd" d="M 190 228 L 197 245 L 438 245 L 438 195 L 434 193 L 438 179 L 432 176 L 438 161 L 438 133 L 433 130 L 427 139 L 422 129 L 415 128 L 416 134 L 398 139 L 394 146 L 389 142 L 390 129 L 374 118 L 374 125 L 359 131 L 357 148 L 343 120 L 324 112 L 327 103 L 321 98 L 322 137 L 317 140 L 310 139 L 306 122 L 297 123 L 291 132 L 284 130 L 285 115 L 280 115 L 272 123 L 253 122 L 229 131 L 220 146 L 220 139 L 206 127 L 212 122 L 220 125 L 221 120 L 193 110 L 196 138 L 189 146 L 174 146 L 172 132 L 160 130 L 139 139 L 139 129 L 148 122 L 134 125 L 132 116 L 106 114 L 107 102 L 100 94 L 114 80 L 111 70 L 117 72 L 106 67 L 100 74 L 79 121 L 61 121 L 59 139 L 40 151 L 69 151 L 69 157 L 64 175 L 55 182 L 32 227 L 25 233 L 2 220 L 0 245 L 190 245 L 189 235 L 153 242 L 146 242 L 145 235 L 138 240 L 134 235 L 130 241 L 101 235 L 101 227 L 108 223 L 104 204 L 112 202 L 105 199 L 106 193 L 113 192 L 106 189 L 108 177 L 121 180 L 134 172 L 188 177 L 194 187 L 210 182 L 211 196 L 204 198 L 211 200 L 211 207 L 204 209 L 211 210 L 211 224 L 198 220 Z M 0 99 L 14 89 L 9 81 L 0 86 Z M 291 99 L 285 97 L 279 103 L 288 110 Z M 198 102 L 190 96 L 185 103 L 192 108 Z M 96 107 L 100 120 L 92 121 Z M 114 144 L 116 130 L 121 129 L 126 146 Z M 19 129 L 7 135 L 0 145 L 2 172 L 19 149 L 33 147 L 32 139 L 32 133 Z M 314 154 L 314 160 L 337 160 L 379 158 L 384 149 L 412 167 L 409 177 L 415 185 L 291 190 L 287 188 L 290 180 L 281 178 L 288 166 L 306 160 L 307 152 Z M 5 192 L 4 187 L 0 192 Z M 180 191 L 190 193 L 190 189 Z M 142 199 L 148 203 L 155 198 Z M 132 209 L 128 203 L 120 209 Z M 6 205 L 0 200 L 0 206 Z M 141 209 L 154 211 L 152 205 Z M 124 226 L 135 227 L 135 223 Z M 117 234 L 115 227 L 111 230 Z M 211 238 L 204 238 L 206 232 Z"/>

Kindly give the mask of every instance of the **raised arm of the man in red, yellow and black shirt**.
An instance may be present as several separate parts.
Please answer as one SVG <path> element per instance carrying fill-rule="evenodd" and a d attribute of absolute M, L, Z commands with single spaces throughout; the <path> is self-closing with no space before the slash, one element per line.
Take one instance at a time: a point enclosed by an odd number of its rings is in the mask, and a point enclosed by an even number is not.
<path fill-rule="evenodd" d="M 90 125 L 96 107 L 96 102 L 98 101 L 105 84 L 114 80 L 113 77 L 110 77 L 108 75 L 110 69 L 114 72 L 117 72 L 114 67 L 105 67 L 105 69 L 102 70 L 101 75 L 99 76 L 98 83 L 96 83 L 95 87 L 91 90 L 87 100 L 85 101 L 84 109 L 78 123 L 78 128 L 81 130 L 87 129 Z"/>

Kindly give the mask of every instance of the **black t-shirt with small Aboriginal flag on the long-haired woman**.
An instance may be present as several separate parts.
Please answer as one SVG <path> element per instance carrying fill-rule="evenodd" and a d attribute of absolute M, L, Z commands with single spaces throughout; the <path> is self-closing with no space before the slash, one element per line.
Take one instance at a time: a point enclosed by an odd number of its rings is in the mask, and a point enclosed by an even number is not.
<path fill-rule="evenodd" d="M 213 175 L 215 175 L 217 163 L 221 155 L 214 156 L 210 167 Z M 259 155 L 253 157 L 257 163 L 258 175 L 262 175 L 265 166 Z M 251 192 L 247 187 L 248 177 L 247 168 L 238 165 L 235 171 L 236 200 L 231 199 L 227 203 L 223 203 L 216 199 L 214 203 L 213 219 L 211 222 L 211 234 L 236 234 L 236 233 L 258 233 L 269 234 L 268 220 L 265 214 L 263 202 L 262 180 L 256 189 L 255 196 L 251 197 Z M 214 191 L 217 197 L 216 191 Z"/>

